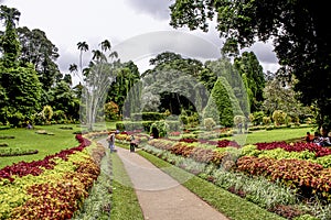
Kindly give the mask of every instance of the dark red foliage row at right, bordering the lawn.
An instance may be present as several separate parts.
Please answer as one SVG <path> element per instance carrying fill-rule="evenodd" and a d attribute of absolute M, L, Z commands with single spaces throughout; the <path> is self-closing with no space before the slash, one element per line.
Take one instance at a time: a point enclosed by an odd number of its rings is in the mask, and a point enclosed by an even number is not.
<path fill-rule="evenodd" d="M 286 142 L 270 142 L 270 143 L 256 143 L 257 150 L 274 150 L 274 148 L 284 148 L 288 152 L 302 152 L 309 151 L 316 154 L 316 157 L 321 157 L 331 154 L 331 148 L 320 146 L 314 143 L 305 143 L 305 142 L 296 142 L 296 143 L 286 143 Z"/>

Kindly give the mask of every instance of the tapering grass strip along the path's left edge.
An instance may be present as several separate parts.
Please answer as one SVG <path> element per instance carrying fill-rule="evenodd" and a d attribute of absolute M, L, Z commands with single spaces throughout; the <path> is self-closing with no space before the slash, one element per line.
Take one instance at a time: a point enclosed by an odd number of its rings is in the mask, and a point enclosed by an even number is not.
<path fill-rule="evenodd" d="M 131 180 L 116 153 L 111 154 L 113 162 L 113 200 L 111 219 L 143 220 L 142 211 L 132 187 Z"/>

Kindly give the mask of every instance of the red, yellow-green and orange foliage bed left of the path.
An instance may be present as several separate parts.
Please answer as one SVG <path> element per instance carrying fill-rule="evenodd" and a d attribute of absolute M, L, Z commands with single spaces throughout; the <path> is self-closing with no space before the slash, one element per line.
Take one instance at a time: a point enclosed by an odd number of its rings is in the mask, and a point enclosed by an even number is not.
<path fill-rule="evenodd" d="M 99 175 L 103 146 L 83 151 L 90 141 L 36 162 L 0 169 L 0 219 L 71 219 Z"/>

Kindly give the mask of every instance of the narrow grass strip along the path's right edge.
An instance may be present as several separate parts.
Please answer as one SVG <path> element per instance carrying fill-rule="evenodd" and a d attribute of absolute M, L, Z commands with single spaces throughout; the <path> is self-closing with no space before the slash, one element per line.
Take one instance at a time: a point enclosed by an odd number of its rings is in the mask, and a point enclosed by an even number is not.
<path fill-rule="evenodd" d="M 172 166 L 169 163 L 147 152 L 139 151 L 138 153 L 159 168 Z M 196 176 L 192 176 L 191 174 L 178 167 L 172 167 L 171 169 L 167 168 L 163 170 L 170 176 L 172 176 L 174 179 L 179 180 L 180 183 L 183 183 L 182 185 L 184 187 L 186 187 L 196 196 L 201 197 L 203 200 L 205 200 L 207 204 L 213 206 L 216 210 L 224 213 L 232 220 L 285 219 L 275 213 L 268 212 L 265 209 L 258 207 L 257 205 L 246 201 L 245 199 L 242 199 L 241 197 L 213 185 L 212 183 L 209 183 Z M 183 179 L 189 180 L 182 182 Z"/>

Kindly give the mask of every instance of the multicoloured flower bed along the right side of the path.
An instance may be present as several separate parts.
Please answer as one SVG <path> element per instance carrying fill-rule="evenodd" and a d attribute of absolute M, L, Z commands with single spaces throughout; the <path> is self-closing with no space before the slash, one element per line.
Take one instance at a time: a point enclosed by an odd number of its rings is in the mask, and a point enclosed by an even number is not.
<path fill-rule="evenodd" d="M 203 140 L 159 139 L 149 141 L 143 148 L 243 198 L 265 206 L 268 210 L 285 218 L 293 219 L 298 216 L 307 216 L 307 213 L 318 217 L 317 219 L 331 217 L 329 210 L 331 201 L 329 148 L 306 143 L 286 144 L 285 142 L 258 143 L 242 148 L 229 146 L 225 142 L 224 147 L 217 147 L 218 145 Z M 249 187 L 244 187 L 243 183 L 235 180 L 233 177 L 235 175 L 264 178 L 279 185 L 285 190 L 290 190 L 295 195 L 296 201 L 291 200 L 291 204 L 278 204 L 277 201 L 270 206 L 271 199 L 264 201 L 268 194 L 273 194 L 271 191 L 267 193 L 269 189 L 259 188 L 256 195 L 249 195 Z M 258 186 L 264 187 L 263 185 L 266 184 Z M 266 190 L 266 195 L 259 195 L 263 190 Z M 280 201 L 281 197 L 278 199 Z M 313 202 L 318 204 L 317 207 L 311 206 Z"/>

